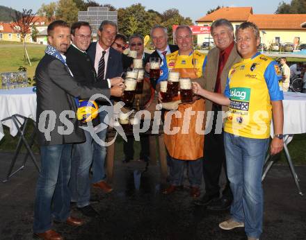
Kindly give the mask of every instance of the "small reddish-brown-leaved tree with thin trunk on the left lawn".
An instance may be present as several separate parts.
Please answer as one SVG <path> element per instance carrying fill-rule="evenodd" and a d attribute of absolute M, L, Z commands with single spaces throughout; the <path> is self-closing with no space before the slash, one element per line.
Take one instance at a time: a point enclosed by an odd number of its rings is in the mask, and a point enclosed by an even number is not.
<path fill-rule="evenodd" d="M 35 24 L 34 18 L 35 13 L 33 13 L 32 9 L 22 9 L 22 12 L 15 11 L 14 22 L 10 24 L 11 28 L 20 34 L 20 40 L 24 43 L 24 62 L 26 62 L 27 57 L 30 65 L 31 61 L 28 51 L 26 51 L 26 35 L 31 34 L 31 26 Z"/>

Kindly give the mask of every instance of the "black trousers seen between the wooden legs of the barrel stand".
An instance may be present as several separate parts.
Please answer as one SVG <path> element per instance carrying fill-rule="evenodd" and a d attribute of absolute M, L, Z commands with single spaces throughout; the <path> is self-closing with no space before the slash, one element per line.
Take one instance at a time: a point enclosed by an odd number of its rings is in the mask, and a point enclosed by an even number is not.
<path fill-rule="evenodd" d="M 150 158 L 150 143 L 149 143 L 149 135 L 140 135 L 140 156 L 139 158 L 145 160 L 145 162 L 149 161 Z M 127 136 L 127 142 L 123 142 L 123 152 L 125 156 L 125 160 L 133 160 L 134 159 L 134 136 Z"/>

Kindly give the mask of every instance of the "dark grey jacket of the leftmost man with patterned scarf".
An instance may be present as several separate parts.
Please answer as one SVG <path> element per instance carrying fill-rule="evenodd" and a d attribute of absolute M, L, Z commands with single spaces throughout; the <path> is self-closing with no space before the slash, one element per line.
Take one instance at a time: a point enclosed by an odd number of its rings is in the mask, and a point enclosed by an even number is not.
<path fill-rule="evenodd" d="M 81 85 L 70 75 L 69 69 L 57 58 L 45 55 L 38 63 L 35 71 L 37 83 L 38 142 L 40 145 L 78 143 L 85 141 L 84 132 L 75 114 L 66 118 L 70 123 L 63 123 L 59 117 L 63 111 L 76 111 L 74 97 L 90 98 L 93 94 L 102 92 L 101 88 L 88 84 Z M 109 94 L 106 95 L 110 97 Z M 49 111 L 49 114 L 42 114 Z M 46 113 L 46 112 L 45 112 Z M 41 117 L 41 118 L 40 118 Z M 63 116 L 61 116 L 63 117 Z M 53 122 L 54 120 L 54 122 Z M 50 135 L 42 132 L 44 128 L 52 129 Z M 67 130 L 67 131 L 66 131 Z"/>

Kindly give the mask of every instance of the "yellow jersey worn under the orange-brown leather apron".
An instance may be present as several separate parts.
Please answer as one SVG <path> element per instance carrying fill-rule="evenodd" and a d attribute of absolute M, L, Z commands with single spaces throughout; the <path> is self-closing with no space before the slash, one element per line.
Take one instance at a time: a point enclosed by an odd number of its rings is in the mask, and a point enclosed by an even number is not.
<path fill-rule="evenodd" d="M 168 79 L 168 73 L 170 69 L 198 69 L 197 76 L 200 78 L 204 72 L 206 65 L 206 55 L 199 51 L 193 51 L 189 55 L 179 55 L 179 51 L 167 54 L 166 58 L 163 58 L 161 64 L 161 76 L 157 83 L 162 80 Z"/>

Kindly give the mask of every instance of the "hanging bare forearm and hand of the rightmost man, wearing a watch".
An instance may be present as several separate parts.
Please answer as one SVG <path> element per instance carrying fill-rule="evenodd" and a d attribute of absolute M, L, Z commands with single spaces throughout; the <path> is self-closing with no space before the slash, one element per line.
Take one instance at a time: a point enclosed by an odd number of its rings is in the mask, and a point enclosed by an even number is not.
<path fill-rule="evenodd" d="M 274 126 L 274 134 L 282 134 L 282 128 L 284 125 L 284 110 L 282 108 L 282 101 L 271 101 L 272 104 L 272 114 L 273 114 L 273 126 Z M 284 146 L 284 142 L 282 139 L 278 139 L 277 137 L 273 137 L 271 142 L 271 155 L 276 153 L 280 153 Z"/>

